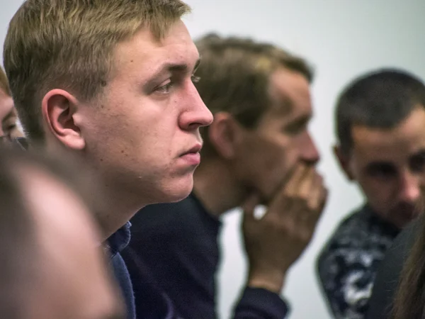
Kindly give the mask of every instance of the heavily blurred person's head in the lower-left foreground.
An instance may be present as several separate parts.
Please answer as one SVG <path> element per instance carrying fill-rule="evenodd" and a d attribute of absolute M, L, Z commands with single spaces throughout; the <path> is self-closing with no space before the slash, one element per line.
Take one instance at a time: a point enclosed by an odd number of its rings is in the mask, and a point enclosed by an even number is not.
<path fill-rule="evenodd" d="M 89 185 L 62 162 L 0 152 L 1 318 L 124 319 L 93 212 L 79 193 Z"/>

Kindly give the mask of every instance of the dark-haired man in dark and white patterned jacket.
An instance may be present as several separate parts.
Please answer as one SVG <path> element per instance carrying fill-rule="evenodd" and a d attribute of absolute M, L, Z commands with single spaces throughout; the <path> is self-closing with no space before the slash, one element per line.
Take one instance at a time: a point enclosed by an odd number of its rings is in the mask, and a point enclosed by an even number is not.
<path fill-rule="evenodd" d="M 399 230 L 418 215 L 425 179 L 425 86 L 412 74 L 380 69 L 339 96 L 335 155 L 365 204 L 345 218 L 317 259 L 335 318 L 365 317 L 375 272 Z"/>

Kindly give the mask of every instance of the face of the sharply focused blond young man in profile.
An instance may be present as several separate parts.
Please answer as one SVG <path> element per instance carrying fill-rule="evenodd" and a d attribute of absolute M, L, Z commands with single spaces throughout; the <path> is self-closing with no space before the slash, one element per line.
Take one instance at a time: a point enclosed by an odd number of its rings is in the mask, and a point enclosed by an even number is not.
<path fill-rule="evenodd" d="M 179 201 L 191 192 L 212 122 L 193 85 L 199 62 L 183 22 L 162 40 L 143 28 L 119 43 L 97 107 L 81 111 L 86 152 L 121 201 Z"/>

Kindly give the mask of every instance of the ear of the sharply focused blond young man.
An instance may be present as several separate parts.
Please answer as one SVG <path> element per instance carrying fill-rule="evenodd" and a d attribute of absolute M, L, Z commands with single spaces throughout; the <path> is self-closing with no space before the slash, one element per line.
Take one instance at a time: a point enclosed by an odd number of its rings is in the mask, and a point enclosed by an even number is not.
<path fill-rule="evenodd" d="M 53 89 L 42 99 L 42 117 L 52 135 L 65 147 L 83 150 L 86 142 L 77 121 L 79 101 L 67 91 Z"/>

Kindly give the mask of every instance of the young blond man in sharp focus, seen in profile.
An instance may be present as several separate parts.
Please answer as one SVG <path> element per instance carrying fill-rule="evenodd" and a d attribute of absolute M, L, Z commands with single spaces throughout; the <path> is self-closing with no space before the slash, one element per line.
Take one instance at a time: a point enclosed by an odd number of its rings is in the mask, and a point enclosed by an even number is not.
<path fill-rule="evenodd" d="M 96 218 L 129 319 L 177 317 L 161 293 L 147 293 L 147 308 L 135 313 L 120 252 L 140 208 L 191 192 L 199 128 L 212 121 L 193 85 L 199 54 L 181 21 L 188 12 L 179 0 L 28 0 L 4 43 L 30 144 L 72 154 L 103 177 Z"/>

